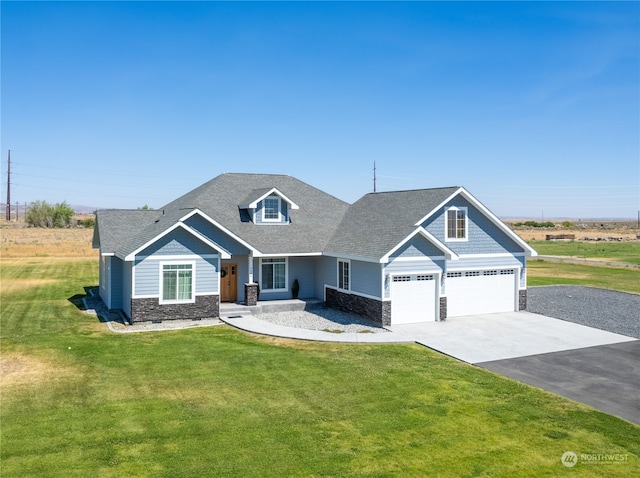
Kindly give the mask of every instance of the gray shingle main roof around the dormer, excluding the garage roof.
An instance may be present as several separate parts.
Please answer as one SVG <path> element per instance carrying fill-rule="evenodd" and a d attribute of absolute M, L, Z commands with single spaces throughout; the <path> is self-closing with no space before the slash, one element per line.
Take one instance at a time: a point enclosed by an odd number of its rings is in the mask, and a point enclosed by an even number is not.
<path fill-rule="evenodd" d="M 240 205 L 248 198 L 254 201 L 274 190 L 291 204 L 299 205 L 297 210 L 291 208 L 290 223 L 256 225 L 247 222 Z M 198 211 L 216 227 L 249 246 L 255 256 L 320 254 L 348 207 L 346 202 L 291 176 L 225 173 L 153 211 L 137 227 L 120 227 L 116 217 L 127 224 L 135 221 L 125 213 L 120 216 L 106 214 L 106 221 L 100 214 L 101 231 L 102 224 L 108 222 L 105 227 L 110 234 L 121 239 L 105 242 L 100 232 L 99 242 L 103 253 L 113 252 L 124 259 Z"/>

